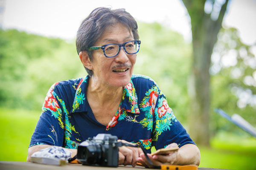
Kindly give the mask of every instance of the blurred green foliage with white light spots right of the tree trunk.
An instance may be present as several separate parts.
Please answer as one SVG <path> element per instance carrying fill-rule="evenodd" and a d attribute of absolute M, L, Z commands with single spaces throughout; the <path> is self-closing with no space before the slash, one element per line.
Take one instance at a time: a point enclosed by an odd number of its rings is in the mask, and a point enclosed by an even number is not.
<path fill-rule="evenodd" d="M 212 54 L 212 111 L 222 108 L 230 114 L 240 114 L 256 125 L 256 56 L 255 45 L 241 42 L 235 28 L 222 28 Z M 235 125 L 212 113 L 211 128 L 236 131 Z"/>

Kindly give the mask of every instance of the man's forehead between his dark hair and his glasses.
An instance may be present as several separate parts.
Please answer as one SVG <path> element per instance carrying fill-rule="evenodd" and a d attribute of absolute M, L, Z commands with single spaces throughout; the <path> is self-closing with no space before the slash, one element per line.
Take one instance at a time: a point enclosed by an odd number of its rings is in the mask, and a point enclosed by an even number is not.
<path fill-rule="evenodd" d="M 96 41 L 96 44 L 123 43 L 127 40 L 134 40 L 132 32 L 125 25 L 116 23 L 105 28 L 105 31 Z"/>

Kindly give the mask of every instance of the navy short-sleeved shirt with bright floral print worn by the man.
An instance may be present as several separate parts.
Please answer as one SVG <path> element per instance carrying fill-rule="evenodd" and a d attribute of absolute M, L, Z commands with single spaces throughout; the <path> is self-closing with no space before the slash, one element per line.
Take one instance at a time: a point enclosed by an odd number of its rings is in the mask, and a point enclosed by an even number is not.
<path fill-rule="evenodd" d="M 175 118 L 166 97 L 149 77 L 132 75 L 123 89 L 122 102 L 108 126 L 99 123 L 86 98 L 88 79 L 57 82 L 49 89 L 30 146 L 48 144 L 77 148 L 78 144 L 109 133 L 128 142 L 151 147 L 195 144 Z"/>

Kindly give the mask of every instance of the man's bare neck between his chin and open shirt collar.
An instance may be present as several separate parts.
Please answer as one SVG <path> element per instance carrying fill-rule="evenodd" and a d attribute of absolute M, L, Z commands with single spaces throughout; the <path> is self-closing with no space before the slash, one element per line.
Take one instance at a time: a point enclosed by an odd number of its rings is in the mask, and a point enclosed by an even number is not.
<path fill-rule="evenodd" d="M 89 79 L 87 98 L 96 101 L 99 106 L 113 105 L 122 101 L 123 87 L 102 84 L 95 77 Z"/>

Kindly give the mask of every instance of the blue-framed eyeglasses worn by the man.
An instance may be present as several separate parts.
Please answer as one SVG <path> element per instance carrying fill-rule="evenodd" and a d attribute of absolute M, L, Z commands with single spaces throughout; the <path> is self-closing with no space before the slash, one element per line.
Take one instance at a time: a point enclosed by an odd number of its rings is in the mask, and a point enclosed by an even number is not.
<path fill-rule="evenodd" d="M 119 54 L 121 47 L 127 54 L 136 54 L 140 50 L 140 40 L 128 41 L 122 44 L 106 44 L 90 47 L 88 51 L 102 49 L 105 57 L 115 57 Z"/>

